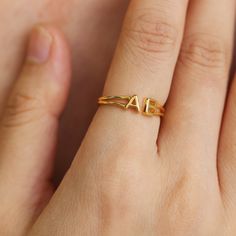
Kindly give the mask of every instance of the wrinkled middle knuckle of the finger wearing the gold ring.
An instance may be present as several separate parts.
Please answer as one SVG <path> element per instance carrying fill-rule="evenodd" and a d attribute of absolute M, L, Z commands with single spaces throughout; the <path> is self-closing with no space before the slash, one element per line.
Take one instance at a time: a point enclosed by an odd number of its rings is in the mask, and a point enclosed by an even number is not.
<path fill-rule="evenodd" d="M 128 18 L 123 33 L 127 46 L 141 54 L 170 54 L 177 39 L 177 30 L 173 24 L 161 20 L 152 10 Z"/>

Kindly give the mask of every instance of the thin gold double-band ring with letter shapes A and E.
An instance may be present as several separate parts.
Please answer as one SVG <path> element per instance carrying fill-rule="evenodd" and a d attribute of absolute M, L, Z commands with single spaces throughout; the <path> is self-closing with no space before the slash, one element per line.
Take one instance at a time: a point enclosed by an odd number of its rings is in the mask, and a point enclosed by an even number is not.
<path fill-rule="evenodd" d="M 155 99 L 144 98 L 143 106 L 140 107 L 139 98 L 133 96 L 102 96 L 98 99 L 100 105 L 114 105 L 123 109 L 133 109 L 147 116 L 164 116 L 165 108 Z"/>

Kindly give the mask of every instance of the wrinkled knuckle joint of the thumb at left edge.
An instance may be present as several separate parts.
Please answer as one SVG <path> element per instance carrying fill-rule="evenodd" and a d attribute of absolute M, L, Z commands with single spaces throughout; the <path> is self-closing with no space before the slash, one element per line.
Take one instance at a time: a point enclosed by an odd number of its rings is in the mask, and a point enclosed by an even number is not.
<path fill-rule="evenodd" d="M 5 107 L 3 125 L 20 126 L 40 117 L 40 101 L 36 96 L 16 92 L 10 97 Z"/>

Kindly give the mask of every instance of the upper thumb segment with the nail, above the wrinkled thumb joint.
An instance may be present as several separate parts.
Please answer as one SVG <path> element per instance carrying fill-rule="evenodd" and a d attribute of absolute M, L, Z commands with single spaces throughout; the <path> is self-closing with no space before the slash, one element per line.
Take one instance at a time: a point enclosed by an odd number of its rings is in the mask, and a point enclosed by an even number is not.
<path fill-rule="evenodd" d="M 16 88 L 24 94 L 37 94 L 38 100 L 58 116 L 65 107 L 71 80 L 71 57 L 66 37 L 51 25 L 36 25 L 27 49 Z"/>

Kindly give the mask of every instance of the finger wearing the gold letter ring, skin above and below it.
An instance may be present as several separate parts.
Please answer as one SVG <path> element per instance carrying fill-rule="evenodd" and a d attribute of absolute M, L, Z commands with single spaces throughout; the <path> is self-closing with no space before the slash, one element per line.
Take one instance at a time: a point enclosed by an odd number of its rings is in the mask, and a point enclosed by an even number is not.
<path fill-rule="evenodd" d="M 164 104 L 182 39 L 187 0 L 131 1 L 107 78 L 104 95 L 137 94 Z M 100 107 L 91 130 L 131 150 L 156 153 L 159 118 L 147 118 L 116 107 Z M 103 138 L 100 136 L 103 134 Z M 100 145 L 96 142 L 96 145 Z M 147 154 L 148 155 L 148 154 Z"/>

